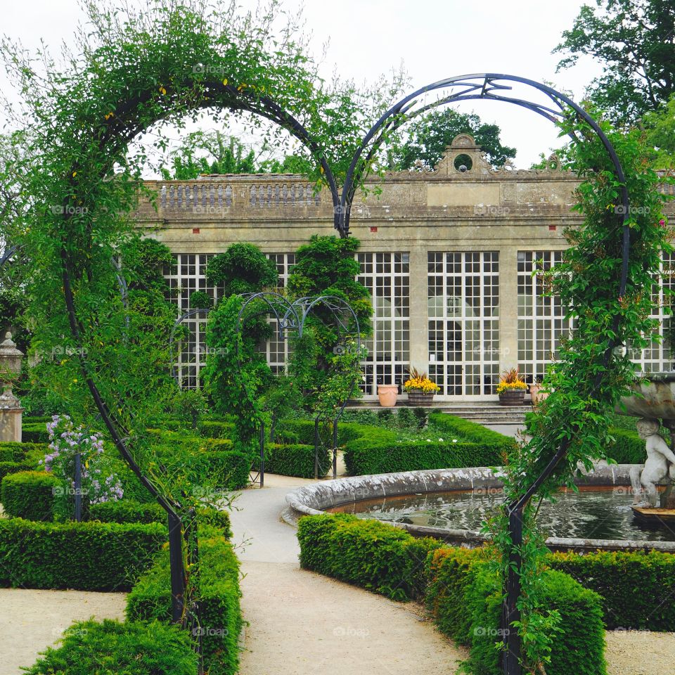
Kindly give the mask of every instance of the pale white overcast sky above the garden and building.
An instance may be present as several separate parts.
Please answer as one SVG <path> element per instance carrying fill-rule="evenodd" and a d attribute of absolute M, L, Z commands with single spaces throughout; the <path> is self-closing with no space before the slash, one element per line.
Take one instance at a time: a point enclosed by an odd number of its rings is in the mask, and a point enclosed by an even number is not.
<path fill-rule="evenodd" d="M 283 4 L 289 10 L 301 5 L 297 0 Z M 402 60 L 413 87 L 451 75 L 502 72 L 551 82 L 572 91 L 578 100 L 600 72 L 590 60 L 555 72 L 560 57 L 551 50 L 563 30 L 572 27 L 584 4 L 580 0 L 306 0 L 303 4 L 315 56 L 330 41 L 322 64 L 326 77 L 337 68 L 341 77 L 373 80 Z M 250 8 L 255 0 L 242 0 L 240 5 Z M 61 41 L 72 38 L 72 27 L 83 16 L 77 0 L 0 0 L 0 9 L 0 32 L 33 49 L 42 38 L 54 53 Z M 5 88 L 3 78 L 0 86 Z M 502 142 L 518 148 L 519 167 L 529 167 L 539 153 L 560 145 L 550 122 L 517 106 L 492 101 L 462 105 L 461 110 L 474 110 L 484 122 L 499 124 Z"/>

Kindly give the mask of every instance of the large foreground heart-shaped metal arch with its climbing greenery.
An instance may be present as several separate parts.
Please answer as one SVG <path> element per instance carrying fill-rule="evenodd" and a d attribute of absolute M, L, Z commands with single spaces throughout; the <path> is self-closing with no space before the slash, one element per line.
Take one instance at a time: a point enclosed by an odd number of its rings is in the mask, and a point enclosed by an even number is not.
<path fill-rule="evenodd" d="M 39 75 L 19 49 L 4 45 L 26 103 L 20 181 L 30 196 L 13 240 L 30 255 L 27 294 L 31 319 L 40 327 L 37 347 L 74 354 L 53 370 L 64 401 L 80 417 L 101 416 L 122 456 L 169 515 L 190 505 L 167 486 L 146 439 L 148 420 L 167 395 L 165 378 L 145 367 L 148 349 L 157 346 L 128 321 L 110 263 L 131 235 L 127 214 L 143 189 L 146 158 L 142 151 L 129 156 L 134 139 L 159 122 L 180 126 L 203 110 L 270 120 L 316 161 L 314 177 L 330 190 L 341 236 L 349 234 L 352 200 L 387 135 L 430 107 L 508 101 L 548 117 L 579 141 L 571 166 L 583 179 L 578 197 L 585 221 L 570 233 L 563 266 L 570 275 L 550 280 L 572 307 L 577 328 L 546 383 L 546 404 L 529 423 L 532 441 L 506 458 L 509 508 L 494 522 L 496 564 L 508 590 L 504 621 L 518 629 L 506 643 L 505 672 L 544 666 L 555 616 L 537 596 L 541 538 L 533 498 L 553 497 L 570 483 L 578 462 L 589 465 L 603 456 L 605 413 L 635 376 L 615 347 L 640 347 L 653 334 L 650 289 L 660 252 L 670 250 L 657 176 L 635 134 L 598 124 L 550 87 L 494 73 L 434 83 L 362 129 L 348 98 L 338 97 L 336 104 L 316 85 L 316 68 L 290 32 L 281 36 L 280 49 L 267 49 L 265 20 L 238 19 L 206 0 L 153 3 L 126 19 L 93 1 L 86 6 L 98 41 L 83 37 L 83 53 L 72 57 L 66 72 L 47 63 L 47 75 Z M 512 82 L 534 86 L 547 103 L 508 96 Z M 413 108 L 423 95 L 445 90 L 451 93 Z M 518 539 L 515 527 L 521 528 Z M 177 534 L 180 549 L 180 528 Z M 182 560 L 180 551 L 176 559 Z M 174 619 L 182 620 L 186 603 L 178 577 Z M 528 638 L 524 647 L 519 636 Z"/>

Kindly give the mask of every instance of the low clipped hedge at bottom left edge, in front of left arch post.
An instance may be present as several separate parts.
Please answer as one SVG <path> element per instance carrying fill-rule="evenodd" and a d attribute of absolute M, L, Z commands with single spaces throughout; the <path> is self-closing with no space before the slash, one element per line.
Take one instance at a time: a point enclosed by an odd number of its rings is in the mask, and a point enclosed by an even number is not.
<path fill-rule="evenodd" d="M 124 624 L 104 619 L 78 622 L 60 646 L 47 648 L 27 675 L 197 675 L 198 657 L 186 631 L 152 622 Z"/>

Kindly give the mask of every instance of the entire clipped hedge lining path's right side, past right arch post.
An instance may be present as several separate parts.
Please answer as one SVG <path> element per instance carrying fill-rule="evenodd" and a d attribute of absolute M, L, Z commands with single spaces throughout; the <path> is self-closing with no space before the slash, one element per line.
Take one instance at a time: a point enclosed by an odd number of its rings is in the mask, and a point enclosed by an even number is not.
<path fill-rule="evenodd" d="M 397 600 L 425 597 L 439 629 L 470 648 L 470 672 L 501 675 L 501 588 L 484 551 L 444 548 L 352 515 L 300 519 L 300 565 Z M 548 675 L 606 675 L 601 598 L 555 570 L 544 572 L 544 606 L 560 612 Z"/>

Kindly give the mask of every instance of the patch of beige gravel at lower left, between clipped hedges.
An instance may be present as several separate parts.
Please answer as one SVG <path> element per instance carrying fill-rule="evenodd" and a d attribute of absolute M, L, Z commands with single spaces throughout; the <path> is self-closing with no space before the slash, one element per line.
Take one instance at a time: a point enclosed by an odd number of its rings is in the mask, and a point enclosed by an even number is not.
<path fill-rule="evenodd" d="M 74 621 L 124 619 L 124 593 L 0 589 L 0 675 L 18 675 Z"/>

